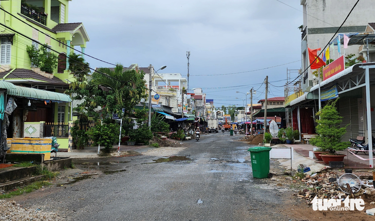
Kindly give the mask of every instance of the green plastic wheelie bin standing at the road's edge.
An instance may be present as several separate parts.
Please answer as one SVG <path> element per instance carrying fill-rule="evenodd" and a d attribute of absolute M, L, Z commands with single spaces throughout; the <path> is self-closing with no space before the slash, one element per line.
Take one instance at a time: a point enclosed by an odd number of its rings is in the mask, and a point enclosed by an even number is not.
<path fill-rule="evenodd" d="M 251 168 L 254 178 L 270 178 L 270 147 L 251 147 Z"/>

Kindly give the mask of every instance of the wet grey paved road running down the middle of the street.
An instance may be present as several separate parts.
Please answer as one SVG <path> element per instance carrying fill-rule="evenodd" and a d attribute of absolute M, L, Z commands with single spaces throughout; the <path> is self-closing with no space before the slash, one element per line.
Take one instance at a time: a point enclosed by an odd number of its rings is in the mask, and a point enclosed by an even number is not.
<path fill-rule="evenodd" d="M 249 146 L 235 141 L 239 136 L 211 133 L 186 141 L 178 155 L 188 160 L 117 157 L 120 163 L 104 167 L 126 171 L 49 188 L 20 203 L 67 220 L 290 220 L 280 211 L 293 204 L 291 192 L 252 178 Z"/>

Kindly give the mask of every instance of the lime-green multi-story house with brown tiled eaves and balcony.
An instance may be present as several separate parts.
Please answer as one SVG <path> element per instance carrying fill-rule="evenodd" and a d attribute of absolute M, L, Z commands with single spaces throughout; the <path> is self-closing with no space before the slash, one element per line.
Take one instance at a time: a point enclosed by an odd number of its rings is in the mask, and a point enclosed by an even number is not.
<path fill-rule="evenodd" d="M 18 93 L 5 88 L 8 97 L 22 97 L 16 100 L 18 107 L 10 116 L 9 130 L 13 133 L 8 134 L 57 136 L 60 148 L 67 149 L 71 99 L 63 92 L 73 77 L 67 55 L 74 46 L 80 47 L 80 52 L 75 53 L 84 53 L 89 41 L 86 30 L 82 23 L 68 23 L 69 0 L 0 1 L 0 8 L 0 77 L 16 87 L 22 86 Z M 58 55 L 57 68 L 50 73 L 36 68 L 27 46 L 46 47 L 47 52 Z M 41 135 L 34 130 L 40 122 L 45 123 Z"/>

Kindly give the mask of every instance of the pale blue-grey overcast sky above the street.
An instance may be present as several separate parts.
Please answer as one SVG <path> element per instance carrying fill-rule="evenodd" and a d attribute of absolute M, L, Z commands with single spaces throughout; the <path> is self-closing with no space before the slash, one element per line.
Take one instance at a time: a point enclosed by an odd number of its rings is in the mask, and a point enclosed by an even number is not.
<path fill-rule="evenodd" d="M 187 78 L 190 51 L 190 89 L 202 88 L 216 107 L 242 106 L 246 96 L 236 91 L 258 89 L 256 104 L 265 97 L 266 75 L 283 86 L 287 68 L 301 68 L 302 6 L 280 1 L 291 7 L 276 0 L 73 0 L 69 23 L 83 23 L 90 37 L 85 53 L 125 67 L 166 65 L 158 73 Z M 111 67 L 86 59 L 92 68 Z M 284 96 L 272 85 L 268 97 Z"/>

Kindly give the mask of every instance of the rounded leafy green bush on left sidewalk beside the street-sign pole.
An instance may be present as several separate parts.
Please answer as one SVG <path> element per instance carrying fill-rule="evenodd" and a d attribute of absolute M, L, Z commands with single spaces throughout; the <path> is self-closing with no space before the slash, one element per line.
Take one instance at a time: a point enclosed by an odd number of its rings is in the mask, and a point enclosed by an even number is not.
<path fill-rule="evenodd" d="M 103 124 L 96 125 L 87 131 L 94 145 L 103 146 L 105 149 L 113 148 L 113 145 L 119 141 L 120 125 Z"/>

